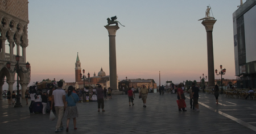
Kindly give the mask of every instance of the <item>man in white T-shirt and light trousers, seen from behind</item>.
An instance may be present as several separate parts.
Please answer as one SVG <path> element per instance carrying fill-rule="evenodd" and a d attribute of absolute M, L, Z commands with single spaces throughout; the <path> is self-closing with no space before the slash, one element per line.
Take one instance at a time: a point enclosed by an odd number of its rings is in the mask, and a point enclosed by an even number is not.
<path fill-rule="evenodd" d="M 57 124 L 56 124 L 56 129 L 55 132 L 60 132 L 63 129 L 63 124 L 62 124 L 62 118 L 64 114 L 64 104 L 65 104 L 65 91 L 62 89 L 63 82 L 58 81 L 58 88 L 52 92 L 52 104 L 51 104 L 51 110 L 53 106 L 53 102 L 55 104 L 55 111 L 57 114 Z"/>

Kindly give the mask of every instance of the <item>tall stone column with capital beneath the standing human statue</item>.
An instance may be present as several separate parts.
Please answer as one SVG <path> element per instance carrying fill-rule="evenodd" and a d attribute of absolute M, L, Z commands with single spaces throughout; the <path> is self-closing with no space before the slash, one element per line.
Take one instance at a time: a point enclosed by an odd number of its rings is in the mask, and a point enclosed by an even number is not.
<path fill-rule="evenodd" d="M 207 60 L 208 60 L 208 87 L 214 87 L 214 60 L 213 60 L 213 25 L 217 20 L 207 19 L 202 22 L 207 31 Z"/>

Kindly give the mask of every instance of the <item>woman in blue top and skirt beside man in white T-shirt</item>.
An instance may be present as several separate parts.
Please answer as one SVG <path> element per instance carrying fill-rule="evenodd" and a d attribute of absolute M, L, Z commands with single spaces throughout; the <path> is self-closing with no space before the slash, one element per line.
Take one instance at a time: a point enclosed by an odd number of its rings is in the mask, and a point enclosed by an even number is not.
<path fill-rule="evenodd" d="M 65 102 L 65 113 L 64 117 L 67 119 L 67 129 L 66 132 L 68 132 L 68 125 L 70 122 L 70 119 L 73 118 L 74 123 L 74 129 L 76 130 L 76 118 L 79 116 L 78 110 L 76 107 L 76 102 L 79 101 L 79 97 L 76 93 L 73 93 L 73 86 L 68 87 L 68 94 L 66 94 L 66 102 Z"/>

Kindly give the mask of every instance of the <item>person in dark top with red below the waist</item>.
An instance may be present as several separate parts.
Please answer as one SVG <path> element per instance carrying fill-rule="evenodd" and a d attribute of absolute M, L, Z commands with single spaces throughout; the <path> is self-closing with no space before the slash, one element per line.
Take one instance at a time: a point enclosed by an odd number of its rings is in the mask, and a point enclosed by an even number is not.
<path fill-rule="evenodd" d="M 179 84 L 178 87 L 177 87 L 177 104 L 178 104 L 178 107 L 179 107 L 179 111 L 187 111 L 185 110 L 185 107 L 186 106 L 186 103 L 185 103 L 185 95 L 184 95 L 184 91 L 181 89 L 182 85 Z"/>

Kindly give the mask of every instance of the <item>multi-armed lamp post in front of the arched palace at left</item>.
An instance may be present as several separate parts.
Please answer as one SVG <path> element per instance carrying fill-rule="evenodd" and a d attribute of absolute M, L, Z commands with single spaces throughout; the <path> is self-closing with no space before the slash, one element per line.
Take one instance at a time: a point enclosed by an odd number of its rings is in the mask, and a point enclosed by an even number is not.
<path fill-rule="evenodd" d="M 14 70 L 11 70 L 11 63 L 10 62 L 7 62 L 6 66 L 7 66 L 7 69 L 9 70 L 10 73 L 14 73 L 16 72 L 17 73 L 17 101 L 14 105 L 14 107 L 22 107 L 22 104 L 20 103 L 20 96 L 19 96 L 19 75 L 18 73 L 19 72 L 23 72 L 23 73 L 28 73 L 28 69 L 30 69 L 30 63 L 26 63 L 26 69 L 27 70 L 23 70 L 22 66 L 19 66 L 19 57 L 20 56 L 16 56 L 16 61 L 17 63 L 15 64 L 15 68 Z"/>

